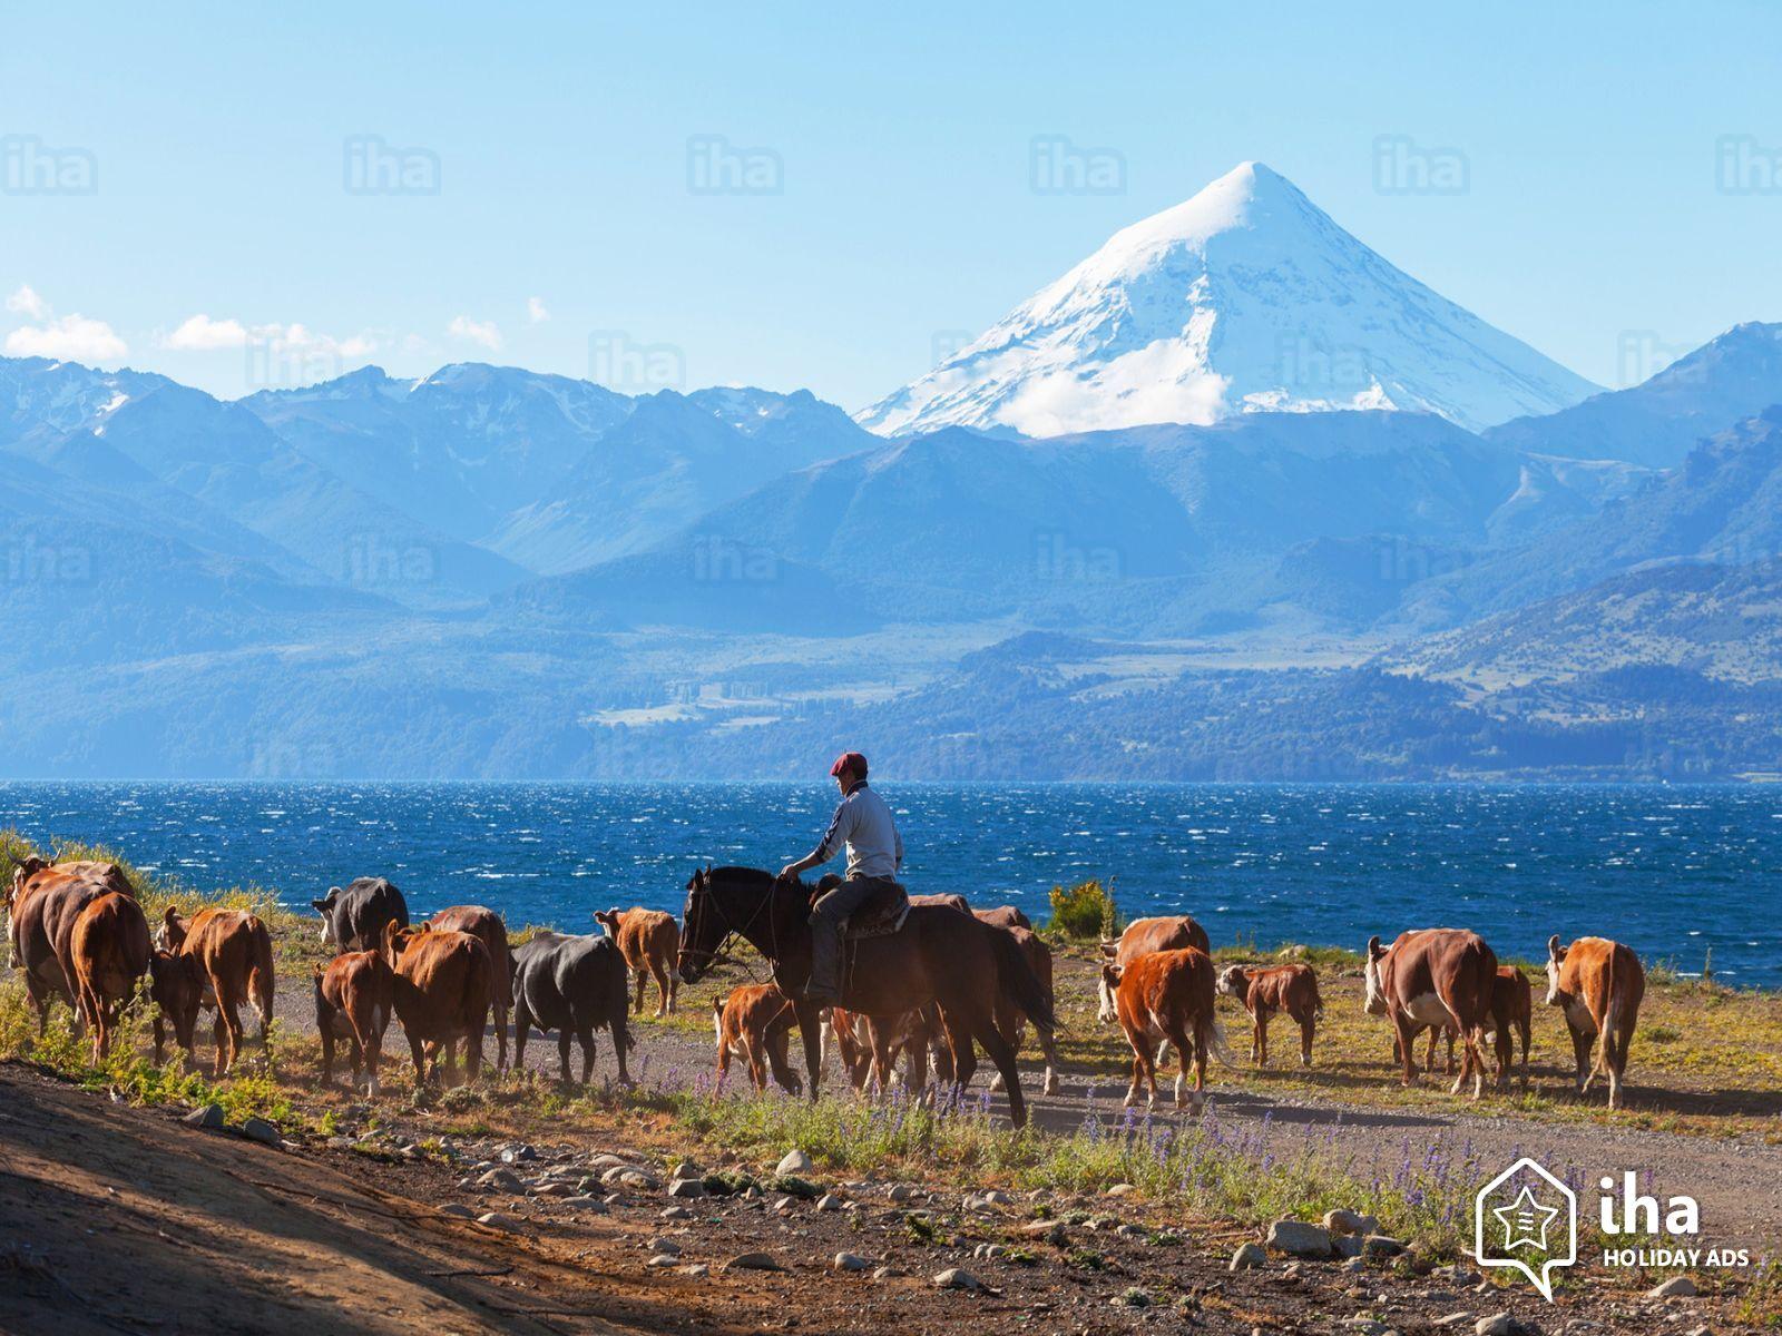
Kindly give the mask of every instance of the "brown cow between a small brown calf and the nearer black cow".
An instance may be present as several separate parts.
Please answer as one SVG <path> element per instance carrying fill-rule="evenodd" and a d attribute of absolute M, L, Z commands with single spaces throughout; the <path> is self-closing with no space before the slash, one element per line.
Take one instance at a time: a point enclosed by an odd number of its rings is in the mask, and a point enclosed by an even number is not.
<path fill-rule="evenodd" d="M 447 1085 L 456 1076 L 456 1046 L 465 1047 L 465 1079 L 483 1069 L 483 1030 L 494 964 L 481 939 L 467 932 L 383 928 L 383 958 L 396 973 L 396 1015 L 415 1058 L 415 1085 L 426 1085 L 428 1058 L 444 1051 Z"/>

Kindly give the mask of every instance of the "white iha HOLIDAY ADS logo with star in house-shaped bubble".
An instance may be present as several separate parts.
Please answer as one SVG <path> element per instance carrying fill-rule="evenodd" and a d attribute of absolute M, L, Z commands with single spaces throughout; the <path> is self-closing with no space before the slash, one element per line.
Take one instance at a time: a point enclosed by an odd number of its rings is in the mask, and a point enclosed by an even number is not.
<path fill-rule="evenodd" d="M 1639 1192 L 1639 1176 L 1604 1177 L 1597 1224 L 1606 1240 L 1604 1267 L 1748 1267 L 1745 1249 L 1693 1247 L 1702 1231 L 1695 1197 Z M 1543 1165 L 1524 1156 L 1486 1183 L 1474 1199 L 1474 1258 L 1529 1277 L 1547 1302 L 1554 1272 L 1577 1265 L 1577 1193 Z"/>

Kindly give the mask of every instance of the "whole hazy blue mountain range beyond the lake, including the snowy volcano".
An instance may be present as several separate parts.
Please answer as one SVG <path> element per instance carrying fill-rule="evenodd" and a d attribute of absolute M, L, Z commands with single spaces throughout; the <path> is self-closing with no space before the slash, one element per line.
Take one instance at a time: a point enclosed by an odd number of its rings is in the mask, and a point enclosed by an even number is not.
<path fill-rule="evenodd" d="M 1778 404 L 1782 326 L 1598 394 L 1260 164 L 857 419 L 0 358 L 0 773 L 1782 770 Z"/>

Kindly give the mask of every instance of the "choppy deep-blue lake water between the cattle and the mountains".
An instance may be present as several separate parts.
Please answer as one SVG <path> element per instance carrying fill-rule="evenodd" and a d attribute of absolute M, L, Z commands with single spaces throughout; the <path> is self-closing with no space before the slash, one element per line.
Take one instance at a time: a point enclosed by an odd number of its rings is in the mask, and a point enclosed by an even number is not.
<path fill-rule="evenodd" d="M 1238 937 L 1360 949 L 1468 926 L 1500 955 L 1549 933 L 1782 987 L 1782 787 L 891 784 L 905 882 L 1044 917 L 1057 882 L 1112 876 L 1128 916 L 1187 910 Z M 700 862 L 805 853 L 829 786 L 0 784 L 0 827 L 114 846 L 194 887 L 305 905 L 385 875 L 410 907 L 485 903 L 588 930 L 609 905 L 679 910 Z"/>

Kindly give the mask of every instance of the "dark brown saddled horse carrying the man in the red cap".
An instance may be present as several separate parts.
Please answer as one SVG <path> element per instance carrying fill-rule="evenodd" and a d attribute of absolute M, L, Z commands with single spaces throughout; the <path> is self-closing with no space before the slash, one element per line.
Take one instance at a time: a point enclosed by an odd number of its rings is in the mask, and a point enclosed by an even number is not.
<path fill-rule="evenodd" d="M 677 969 L 697 982 L 722 957 L 732 937 L 745 939 L 773 964 L 773 982 L 797 998 L 811 976 L 811 887 L 775 880 L 757 868 L 702 868 L 686 884 Z M 891 1021 L 939 1003 L 953 1049 L 955 1079 L 977 1069 L 977 1040 L 1001 1072 L 1009 1117 L 1026 1122 L 1026 1101 L 1014 1067 L 1014 1049 L 996 1030 L 996 1003 L 1007 998 L 1041 1030 L 1053 1028 L 1034 967 L 1014 937 L 948 905 L 911 905 L 903 926 L 886 937 L 848 942 L 841 971 L 841 1005 Z M 820 1008 L 795 1001 L 811 1099 L 823 1071 Z M 912 1055 L 914 1056 L 914 1055 Z"/>

